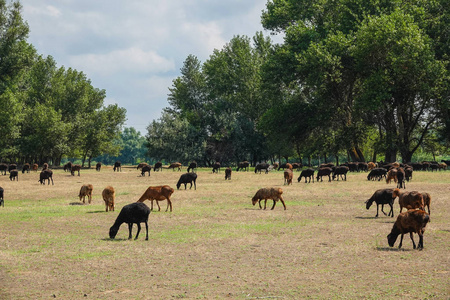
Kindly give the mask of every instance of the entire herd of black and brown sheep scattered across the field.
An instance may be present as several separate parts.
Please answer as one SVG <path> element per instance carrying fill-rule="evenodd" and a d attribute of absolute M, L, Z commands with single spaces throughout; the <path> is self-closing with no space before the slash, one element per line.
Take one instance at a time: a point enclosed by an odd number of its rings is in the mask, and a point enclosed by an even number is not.
<path fill-rule="evenodd" d="M 375 217 L 379 216 L 379 206 L 381 205 L 381 212 L 384 215 L 394 217 L 394 200 L 398 197 L 398 202 L 400 205 L 400 212 L 397 216 L 397 219 L 392 227 L 391 232 L 387 236 L 388 244 L 390 247 L 393 247 L 398 236 L 401 235 L 399 248 L 402 247 L 403 235 L 409 233 L 411 241 L 413 243 L 413 248 L 416 249 L 416 243 L 413 239 L 413 233 L 417 233 L 419 235 L 419 242 L 417 244 L 418 249 L 423 248 L 423 234 L 425 231 L 425 227 L 427 223 L 430 221 L 430 204 L 431 204 L 431 196 L 427 192 L 418 192 L 418 191 L 405 191 L 401 189 L 406 189 L 405 182 L 410 181 L 413 177 L 413 170 L 416 171 L 440 171 L 446 170 L 447 166 L 450 165 L 450 161 L 442 160 L 441 163 L 438 162 L 422 162 L 422 163 L 374 163 L 374 162 L 351 162 L 345 163 L 340 166 L 335 166 L 332 163 L 321 164 L 317 170 L 313 168 L 305 168 L 303 169 L 303 165 L 301 163 L 285 163 L 285 164 L 268 164 L 268 163 L 259 163 L 255 166 L 255 174 L 261 174 L 262 171 L 264 173 L 268 173 L 272 170 L 281 170 L 283 169 L 284 175 L 284 184 L 292 185 L 294 170 L 301 170 L 300 176 L 297 178 L 297 181 L 300 182 L 304 178 L 305 183 L 314 183 L 314 174 L 317 171 L 316 181 L 322 182 L 323 177 L 328 178 L 328 182 L 332 180 L 339 181 L 340 179 L 343 181 L 347 180 L 348 172 L 369 172 L 367 175 L 367 180 L 377 180 L 380 181 L 383 178 L 386 180 L 386 183 L 390 183 L 394 181 L 397 184 L 397 187 L 387 188 L 387 189 L 379 189 L 375 191 L 375 193 L 365 202 L 366 209 L 369 209 L 372 204 L 375 202 L 377 205 L 377 214 Z M 240 162 L 236 168 L 236 172 L 239 171 L 249 171 L 250 163 L 248 161 Z M 97 171 L 101 171 L 102 164 L 97 163 L 95 169 Z M 22 174 L 31 171 L 38 171 L 39 166 L 37 164 L 28 164 L 25 163 L 22 165 Z M 170 164 L 168 167 L 164 167 L 161 162 L 157 162 L 154 166 L 148 165 L 147 163 L 140 163 L 137 166 L 137 170 L 141 172 L 141 176 L 145 176 L 148 173 L 150 176 L 150 172 L 153 168 L 153 172 L 162 171 L 163 169 L 172 169 L 173 171 L 182 171 L 182 164 L 179 162 L 175 162 Z M 82 170 L 80 165 L 72 164 L 72 162 L 68 162 L 63 167 L 64 171 L 71 172 L 72 176 L 75 176 L 75 172 L 80 176 L 80 172 Z M 212 165 L 212 173 L 219 173 L 221 169 L 220 162 L 216 162 Z M 197 163 L 191 162 L 188 166 L 187 173 L 182 174 L 180 179 L 178 180 L 176 186 L 177 189 L 180 189 L 181 185 L 184 185 L 184 188 L 187 189 L 187 184 L 190 184 L 189 188 L 191 189 L 194 186 L 194 189 L 197 189 Z M 114 172 L 122 171 L 121 162 L 117 161 L 114 163 L 113 167 Z M 19 172 L 17 164 L 5 164 L 0 163 L 0 175 L 6 175 L 9 172 L 9 179 L 11 181 L 19 181 Z M 225 169 L 225 180 L 231 180 L 232 168 L 227 167 Z M 47 184 L 50 185 L 50 181 L 52 185 L 53 182 L 53 172 L 49 169 L 47 163 L 42 165 L 42 170 L 39 174 L 39 182 L 40 184 L 45 184 L 45 181 L 48 181 Z M 80 201 L 85 203 L 87 198 L 88 203 L 90 204 L 92 201 L 92 191 L 93 186 L 91 184 L 85 184 L 81 187 L 79 192 Z M 132 238 L 132 226 L 133 224 L 137 224 L 138 231 L 136 233 L 135 239 L 138 238 L 139 233 L 141 231 L 141 223 L 145 223 L 146 227 L 146 240 L 148 240 L 148 217 L 150 211 L 153 210 L 153 201 L 156 201 L 156 205 L 158 206 L 158 211 L 161 210 L 159 205 L 159 201 L 167 201 L 166 212 L 170 209 L 172 211 L 172 201 L 170 200 L 171 195 L 173 194 L 174 189 L 169 185 L 162 186 L 150 186 L 144 194 L 137 200 L 135 203 L 131 203 L 125 205 L 113 226 L 111 226 L 109 231 L 109 236 L 111 239 L 114 239 L 117 235 L 119 227 L 123 223 L 128 224 L 129 236 L 128 238 Z M 271 199 L 273 201 L 273 205 L 271 209 L 275 208 L 275 205 L 278 201 L 280 201 L 286 210 L 286 204 L 282 197 L 283 190 L 281 188 L 261 188 L 259 189 L 252 198 L 252 204 L 259 204 L 259 208 L 262 209 L 261 201 L 264 200 L 264 209 L 266 209 L 267 200 Z M 107 186 L 102 191 L 102 197 L 105 202 L 105 210 L 114 211 L 115 208 L 115 190 L 112 186 Z M 149 200 L 151 203 L 151 207 L 149 208 L 143 202 L 145 200 Z M 390 210 L 388 214 L 384 211 L 384 205 L 389 205 Z M 4 207 L 4 189 L 0 187 L 0 206 Z M 428 212 L 425 211 L 425 207 Z M 407 211 L 403 211 L 403 208 L 406 208 Z"/>

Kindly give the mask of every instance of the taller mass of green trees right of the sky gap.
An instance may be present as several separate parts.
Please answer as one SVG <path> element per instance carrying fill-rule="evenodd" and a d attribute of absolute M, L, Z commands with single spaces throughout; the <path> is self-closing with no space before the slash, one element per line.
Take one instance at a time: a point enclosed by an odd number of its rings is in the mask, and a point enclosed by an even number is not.
<path fill-rule="evenodd" d="M 147 130 L 155 159 L 404 162 L 450 145 L 448 0 L 268 1 L 262 25 L 189 55 Z"/>

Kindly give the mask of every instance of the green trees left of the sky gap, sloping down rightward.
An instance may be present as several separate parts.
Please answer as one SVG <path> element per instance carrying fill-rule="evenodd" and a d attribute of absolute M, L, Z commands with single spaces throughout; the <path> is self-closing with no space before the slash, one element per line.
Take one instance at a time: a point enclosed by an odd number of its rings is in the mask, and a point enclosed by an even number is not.
<path fill-rule="evenodd" d="M 83 72 L 57 67 L 27 42 L 19 1 L 0 0 L 0 161 L 48 162 L 118 155 L 126 110 Z"/>

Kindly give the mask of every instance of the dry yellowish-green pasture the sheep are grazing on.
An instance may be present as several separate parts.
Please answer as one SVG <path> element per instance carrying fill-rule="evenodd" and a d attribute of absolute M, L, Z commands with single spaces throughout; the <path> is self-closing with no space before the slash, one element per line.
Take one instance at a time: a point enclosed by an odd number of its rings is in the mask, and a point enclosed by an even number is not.
<path fill-rule="evenodd" d="M 185 168 L 184 168 L 185 170 Z M 175 190 L 173 212 L 150 214 L 150 238 L 127 240 L 123 224 L 108 236 L 120 209 L 148 186 L 176 189 L 180 172 L 139 177 L 54 171 L 55 185 L 38 173 L 19 182 L 0 176 L 0 299 L 449 299 L 450 171 L 415 172 L 407 190 L 432 196 L 424 250 L 387 244 L 398 215 L 374 218 L 366 210 L 375 190 L 394 187 L 352 173 L 346 182 L 283 186 L 283 172 L 212 174 L 200 169 L 197 190 Z M 295 179 L 299 172 L 295 172 Z M 94 185 L 93 203 L 80 205 L 82 184 Z M 105 212 L 103 188 L 116 189 L 116 211 Z M 282 187 L 287 210 L 252 206 L 261 187 Z M 150 202 L 145 202 L 150 206 Z M 269 208 L 272 201 L 268 201 Z M 133 228 L 133 236 L 136 226 Z M 418 241 L 415 235 L 416 242 Z"/>

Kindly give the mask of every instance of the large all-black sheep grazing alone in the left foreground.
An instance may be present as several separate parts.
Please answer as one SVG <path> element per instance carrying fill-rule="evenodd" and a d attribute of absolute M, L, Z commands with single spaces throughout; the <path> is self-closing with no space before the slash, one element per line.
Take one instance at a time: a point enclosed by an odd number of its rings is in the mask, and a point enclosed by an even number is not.
<path fill-rule="evenodd" d="M 128 239 L 131 240 L 132 234 L 131 231 L 133 229 L 133 224 L 138 226 L 138 232 L 136 233 L 137 240 L 139 237 L 139 233 L 141 232 L 141 223 L 145 223 L 146 236 L 145 240 L 148 241 L 148 216 L 150 215 L 150 209 L 147 205 L 140 202 L 131 203 L 122 207 L 119 215 L 117 216 L 116 221 L 113 226 L 109 229 L 109 237 L 114 239 L 119 231 L 120 225 L 123 223 L 128 224 Z"/>

